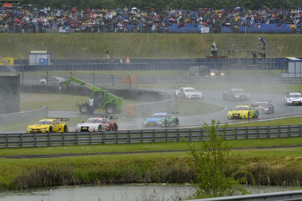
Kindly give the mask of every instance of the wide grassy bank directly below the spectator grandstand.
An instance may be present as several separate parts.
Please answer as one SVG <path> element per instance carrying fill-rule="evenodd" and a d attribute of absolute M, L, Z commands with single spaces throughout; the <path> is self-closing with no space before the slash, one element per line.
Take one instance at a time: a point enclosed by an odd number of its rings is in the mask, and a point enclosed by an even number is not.
<path fill-rule="evenodd" d="M 246 39 L 257 39 L 260 36 L 262 34 L 247 34 Z M 229 39 L 243 39 L 243 37 L 243 34 L 228 34 Z M 7 47 L 2 56 L 16 59 L 20 57 L 28 59 L 31 50 L 51 52 L 53 59 L 104 59 L 105 49 L 109 49 L 110 55 L 115 59 L 200 58 L 205 57 L 213 42 L 220 50 L 224 50 L 226 34 L 2 33 L 1 39 L 0 47 Z M 266 57 L 302 56 L 299 48 L 302 46 L 302 40 L 298 34 L 266 34 L 265 39 L 266 42 L 275 42 L 274 55 L 266 55 Z M 87 48 L 86 51 L 84 47 Z M 242 56 L 246 56 L 245 54 Z"/>

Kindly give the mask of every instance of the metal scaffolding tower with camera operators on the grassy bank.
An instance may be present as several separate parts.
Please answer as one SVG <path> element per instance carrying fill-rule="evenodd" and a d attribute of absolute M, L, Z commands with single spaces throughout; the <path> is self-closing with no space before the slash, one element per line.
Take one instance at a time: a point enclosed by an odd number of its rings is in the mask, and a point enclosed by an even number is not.
<path fill-rule="evenodd" d="M 271 76 L 274 67 L 272 55 L 275 53 L 275 42 L 259 39 L 229 39 L 226 35 L 225 51 L 226 69 L 229 75 Z M 257 56 L 255 58 L 254 56 Z M 253 56 L 254 55 L 254 56 Z M 259 58 L 260 57 L 260 58 Z"/>

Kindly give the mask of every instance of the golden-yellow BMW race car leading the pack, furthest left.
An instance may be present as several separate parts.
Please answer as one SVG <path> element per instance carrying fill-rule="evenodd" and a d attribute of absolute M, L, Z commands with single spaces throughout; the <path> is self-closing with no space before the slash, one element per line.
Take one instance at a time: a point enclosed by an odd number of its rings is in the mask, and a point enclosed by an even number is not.
<path fill-rule="evenodd" d="M 27 133 L 68 132 L 68 126 L 62 121 L 69 119 L 42 119 L 34 125 L 27 126 Z"/>

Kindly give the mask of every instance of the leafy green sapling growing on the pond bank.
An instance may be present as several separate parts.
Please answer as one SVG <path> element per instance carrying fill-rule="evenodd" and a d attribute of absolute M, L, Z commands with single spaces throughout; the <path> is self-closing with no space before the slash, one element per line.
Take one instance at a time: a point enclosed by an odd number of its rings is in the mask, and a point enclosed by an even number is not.
<path fill-rule="evenodd" d="M 234 178 L 235 175 L 240 175 L 239 156 L 230 154 L 229 142 L 224 139 L 224 134 L 219 136 L 217 132 L 219 124 L 220 122 L 216 123 L 215 120 L 212 120 L 211 125 L 205 123 L 204 128 L 207 129 L 209 140 L 201 141 L 198 150 L 187 142 L 192 165 L 197 174 L 197 196 L 222 197 L 248 193 L 240 184 L 242 180 Z"/>

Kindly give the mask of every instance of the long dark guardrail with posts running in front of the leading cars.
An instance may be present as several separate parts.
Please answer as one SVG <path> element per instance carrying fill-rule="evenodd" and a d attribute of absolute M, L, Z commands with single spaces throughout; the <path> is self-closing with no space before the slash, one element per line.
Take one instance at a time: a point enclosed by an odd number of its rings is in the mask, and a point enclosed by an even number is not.
<path fill-rule="evenodd" d="M 217 128 L 225 139 L 301 137 L 302 125 Z M 209 140 L 206 129 L 0 134 L 0 148 Z"/>

